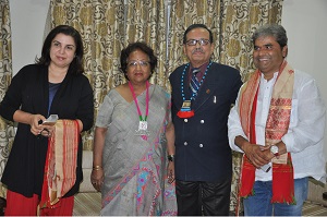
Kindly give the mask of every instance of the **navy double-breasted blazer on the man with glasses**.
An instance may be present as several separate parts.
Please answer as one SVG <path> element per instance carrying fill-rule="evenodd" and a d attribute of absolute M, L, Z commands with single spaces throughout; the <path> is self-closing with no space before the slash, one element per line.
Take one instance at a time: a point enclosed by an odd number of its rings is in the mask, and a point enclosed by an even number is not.
<path fill-rule="evenodd" d="M 177 112 L 183 104 L 181 76 L 184 68 L 185 65 L 179 67 L 169 76 L 175 130 L 175 178 L 181 181 L 230 179 L 232 159 L 227 120 L 242 85 L 240 72 L 214 62 L 195 101 L 192 101 L 195 116 L 181 119 L 177 117 Z M 190 99 L 187 73 L 184 75 L 184 93 L 185 98 Z"/>

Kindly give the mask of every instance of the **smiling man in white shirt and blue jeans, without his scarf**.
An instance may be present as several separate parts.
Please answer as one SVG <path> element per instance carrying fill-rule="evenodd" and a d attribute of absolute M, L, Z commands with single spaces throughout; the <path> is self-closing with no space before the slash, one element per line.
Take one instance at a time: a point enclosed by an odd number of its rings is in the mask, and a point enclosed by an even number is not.
<path fill-rule="evenodd" d="M 250 133 L 242 128 L 241 123 L 242 114 L 240 114 L 240 111 L 242 108 L 240 105 L 244 105 L 242 99 L 244 88 L 246 88 L 246 85 L 249 86 L 247 83 L 241 87 L 228 121 L 230 147 L 233 150 L 244 153 L 246 160 L 250 160 L 255 168 L 252 193 L 243 195 L 245 197 L 243 201 L 244 212 L 245 215 L 257 216 L 301 215 L 303 202 L 307 196 L 307 178 L 312 177 L 323 182 L 326 179 L 323 150 L 325 105 L 312 76 L 299 70 L 289 70 L 293 74 L 293 88 L 290 97 L 291 108 L 288 129 L 276 144 L 267 144 L 266 126 L 267 123 L 271 123 L 267 119 L 272 110 L 271 98 L 274 88 L 277 88 L 275 84 L 282 73 L 282 65 L 291 69 L 284 59 L 288 49 L 286 31 L 279 25 L 263 26 L 254 34 L 253 43 L 253 58 L 257 67 L 255 73 L 258 75 L 257 89 L 252 92 L 252 95 L 257 94 L 255 101 L 253 101 L 256 109 L 253 112 L 255 114 L 252 114 L 255 117 L 252 118 L 254 120 L 255 143 L 251 144 Z M 252 110 L 254 106 L 252 106 Z M 275 147 L 272 148 L 272 146 Z M 268 172 L 261 169 L 264 165 L 271 167 L 271 160 L 279 159 L 281 155 L 291 156 L 290 171 L 294 180 L 294 198 L 292 203 L 271 200 L 271 197 L 274 198 L 271 182 L 275 166 Z M 276 183 L 276 186 L 281 184 L 283 183 Z"/>

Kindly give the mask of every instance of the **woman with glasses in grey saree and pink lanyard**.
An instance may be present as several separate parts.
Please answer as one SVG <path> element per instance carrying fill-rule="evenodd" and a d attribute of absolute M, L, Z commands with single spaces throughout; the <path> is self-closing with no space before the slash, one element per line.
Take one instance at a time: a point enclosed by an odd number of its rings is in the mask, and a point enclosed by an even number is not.
<path fill-rule="evenodd" d="M 101 191 L 101 215 L 177 215 L 170 95 L 148 82 L 157 58 L 133 43 L 120 61 L 128 82 L 109 91 L 95 129 L 90 181 Z"/>

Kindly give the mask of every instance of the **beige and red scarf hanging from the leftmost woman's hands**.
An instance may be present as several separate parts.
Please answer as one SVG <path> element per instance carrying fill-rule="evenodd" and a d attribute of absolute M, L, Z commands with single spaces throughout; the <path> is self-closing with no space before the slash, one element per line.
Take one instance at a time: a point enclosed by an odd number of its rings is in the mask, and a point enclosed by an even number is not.
<path fill-rule="evenodd" d="M 78 122 L 58 120 L 48 143 L 40 208 L 60 206 L 60 197 L 76 181 Z"/>

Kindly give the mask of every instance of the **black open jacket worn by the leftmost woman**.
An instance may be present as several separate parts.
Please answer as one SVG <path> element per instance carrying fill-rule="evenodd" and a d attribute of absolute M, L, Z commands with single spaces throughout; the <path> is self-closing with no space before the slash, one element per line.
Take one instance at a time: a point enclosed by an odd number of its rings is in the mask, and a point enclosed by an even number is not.
<path fill-rule="evenodd" d="M 0 114 L 13 121 L 14 112 L 20 109 L 31 113 L 48 117 L 49 83 L 48 68 L 31 64 L 24 67 L 13 77 L 3 100 L 0 104 Z M 57 91 L 50 114 L 58 114 L 59 119 L 80 119 L 83 131 L 89 130 L 94 121 L 93 89 L 87 77 L 83 74 L 66 74 Z M 9 190 L 26 197 L 40 195 L 48 140 L 37 138 L 31 133 L 29 124 L 19 123 L 17 132 L 5 165 L 2 183 Z M 82 173 L 82 140 L 77 152 L 76 183 L 65 196 L 78 191 Z"/>

